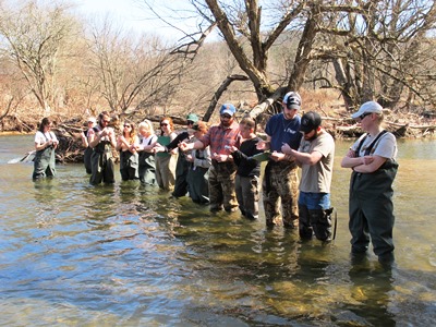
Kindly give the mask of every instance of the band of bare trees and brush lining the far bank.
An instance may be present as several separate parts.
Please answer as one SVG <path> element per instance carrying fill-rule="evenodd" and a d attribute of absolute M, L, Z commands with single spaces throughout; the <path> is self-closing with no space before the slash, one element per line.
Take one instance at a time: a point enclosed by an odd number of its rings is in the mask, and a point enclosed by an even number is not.
<path fill-rule="evenodd" d="M 144 17 L 184 37 L 95 24 L 61 2 L 0 2 L 0 117 L 20 107 L 140 117 L 195 108 L 209 119 L 228 100 L 255 100 L 255 117 L 279 109 L 288 90 L 319 88 L 338 90 L 349 109 L 368 99 L 435 106 L 434 1 L 138 1 Z"/>

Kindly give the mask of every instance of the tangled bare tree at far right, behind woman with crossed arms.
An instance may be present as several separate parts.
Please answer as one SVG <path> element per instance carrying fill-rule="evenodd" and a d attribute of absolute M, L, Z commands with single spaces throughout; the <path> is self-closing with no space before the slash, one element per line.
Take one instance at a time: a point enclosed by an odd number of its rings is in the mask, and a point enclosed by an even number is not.
<path fill-rule="evenodd" d="M 320 57 L 331 60 L 336 85 L 348 107 L 368 99 L 395 107 L 404 88 L 424 96 L 417 87 L 424 75 L 417 72 L 428 58 L 422 46 L 435 27 L 434 1 L 365 1 L 337 11 L 322 10 L 329 15 L 319 29 L 332 37 L 327 38 L 330 52 L 323 51 Z"/>

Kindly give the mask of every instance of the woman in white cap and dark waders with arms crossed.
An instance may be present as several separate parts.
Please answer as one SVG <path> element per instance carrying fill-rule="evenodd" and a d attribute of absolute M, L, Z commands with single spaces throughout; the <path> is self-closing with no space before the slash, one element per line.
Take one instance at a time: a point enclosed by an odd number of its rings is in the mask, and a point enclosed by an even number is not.
<path fill-rule="evenodd" d="M 368 249 L 382 264 L 393 262 L 392 182 L 397 174 L 397 141 L 382 128 L 383 108 L 375 101 L 361 106 L 351 116 L 360 122 L 363 134 L 343 157 L 341 166 L 351 168 L 349 228 L 354 257 Z"/>

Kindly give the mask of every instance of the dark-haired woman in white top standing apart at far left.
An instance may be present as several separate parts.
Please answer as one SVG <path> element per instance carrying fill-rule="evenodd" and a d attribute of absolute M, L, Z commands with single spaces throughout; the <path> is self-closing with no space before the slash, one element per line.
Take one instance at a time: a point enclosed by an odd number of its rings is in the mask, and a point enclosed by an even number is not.
<path fill-rule="evenodd" d="M 52 122 L 49 118 L 44 118 L 38 132 L 35 135 L 35 159 L 34 159 L 34 180 L 45 177 L 55 177 L 55 149 L 58 147 L 59 141 L 55 133 L 50 131 Z"/>

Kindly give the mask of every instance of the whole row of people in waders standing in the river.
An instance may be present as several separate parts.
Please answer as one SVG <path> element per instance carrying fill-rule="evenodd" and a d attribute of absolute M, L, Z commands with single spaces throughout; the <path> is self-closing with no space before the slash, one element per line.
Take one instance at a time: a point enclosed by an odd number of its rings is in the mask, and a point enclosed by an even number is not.
<path fill-rule="evenodd" d="M 149 120 L 137 128 L 124 121 L 119 136 L 110 126 L 110 116 L 89 118 L 82 135 L 84 164 L 90 184 L 113 183 L 113 149 L 119 152 L 123 181 L 140 180 L 158 185 L 175 198 L 189 195 L 209 205 L 210 211 L 235 211 L 258 218 L 262 198 L 266 225 L 298 229 L 302 239 L 332 240 L 332 178 L 335 141 L 322 126 L 315 111 L 300 116 L 302 99 L 286 94 L 282 112 L 266 126 L 266 140 L 256 135 L 256 121 L 235 119 L 237 109 L 225 104 L 219 123 L 210 128 L 197 114 L 186 117 L 186 129 L 175 133 L 170 117 L 159 121 L 155 133 Z M 383 108 L 375 101 L 363 104 L 352 118 L 364 133 L 341 160 L 352 170 L 349 229 L 352 254 L 364 256 L 370 241 L 383 263 L 393 262 L 392 182 L 398 164 L 396 137 L 383 130 Z M 35 136 L 34 179 L 53 177 L 55 150 L 59 144 L 52 122 L 44 118 Z M 262 161 L 267 161 L 261 182 Z M 299 171 L 301 168 L 301 172 Z"/>

